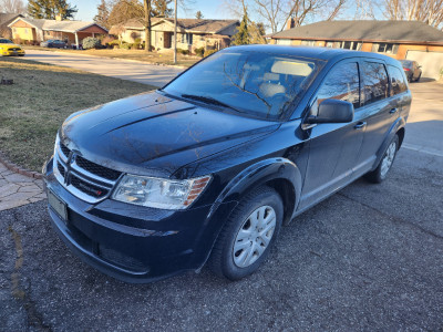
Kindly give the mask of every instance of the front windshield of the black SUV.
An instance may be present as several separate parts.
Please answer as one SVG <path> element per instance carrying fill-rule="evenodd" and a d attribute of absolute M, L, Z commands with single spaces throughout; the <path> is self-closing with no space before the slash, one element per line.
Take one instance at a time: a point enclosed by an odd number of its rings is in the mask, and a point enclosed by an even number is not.
<path fill-rule="evenodd" d="M 262 52 L 216 53 L 171 82 L 172 95 L 266 120 L 289 115 L 317 72 L 315 60 Z"/>

